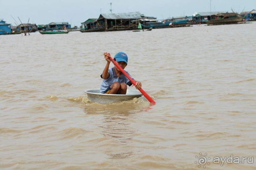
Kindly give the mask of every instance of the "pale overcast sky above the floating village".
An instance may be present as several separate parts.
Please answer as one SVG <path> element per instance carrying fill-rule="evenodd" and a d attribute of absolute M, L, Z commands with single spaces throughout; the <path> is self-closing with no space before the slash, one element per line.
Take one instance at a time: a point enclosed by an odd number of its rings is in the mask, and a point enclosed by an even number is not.
<path fill-rule="evenodd" d="M 256 0 L 0 0 L 0 19 L 15 26 L 20 24 L 49 24 L 69 22 L 71 26 L 81 26 L 89 18 L 110 12 L 125 13 L 139 11 L 145 16 L 163 20 L 172 16 L 191 16 L 195 12 L 251 11 L 256 9 Z M 211 8 L 210 8 L 211 6 Z M 14 17 L 14 19 L 11 17 Z"/>

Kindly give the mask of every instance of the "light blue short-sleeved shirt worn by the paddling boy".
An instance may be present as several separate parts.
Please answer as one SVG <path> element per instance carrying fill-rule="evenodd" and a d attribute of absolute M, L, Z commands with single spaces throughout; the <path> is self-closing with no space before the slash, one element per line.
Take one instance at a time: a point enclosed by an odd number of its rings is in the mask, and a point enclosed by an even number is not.
<path fill-rule="evenodd" d="M 132 76 L 127 71 L 125 72 L 132 78 Z M 119 83 L 124 82 L 128 86 L 132 85 L 130 80 L 122 72 L 121 72 L 121 75 L 118 77 L 115 73 L 114 67 L 112 67 L 111 69 L 108 69 L 108 74 L 109 74 L 108 78 L 103 79 L 101 83 L 100 92 L 103 94 L 106 93 L 106 91 L 110 90 L 110 86 L 113 82 L 119 82 Z M 101 75 L 101 78 L 102 78 L 102 75 Z"/>

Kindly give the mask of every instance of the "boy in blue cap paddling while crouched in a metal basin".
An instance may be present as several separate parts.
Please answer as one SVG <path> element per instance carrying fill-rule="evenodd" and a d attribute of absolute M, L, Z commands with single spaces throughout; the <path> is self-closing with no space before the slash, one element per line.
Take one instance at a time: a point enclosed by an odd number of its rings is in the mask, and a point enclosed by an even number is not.
<path fill-rule="evenodd" d="M 111 57 L 110 53 L 104 52 L 103 55 L 105 60 L 107 61 L 107 64 L 101 75 L 101 78 L 103 78 L 103 80 L 100 92 L 103 94 L 126 94 L 127 85 L 131 86 L 132 83 L 116 66 L 109 69 L 109 57 Z M 128 57 L 124 52 L 118 52 L 117 54 L 115 54 L 114 60 L 122 69 L 124 69 L 127 66 Z M 125 72 L 130 76 L 130 74 L 127 71 Z M 135 88 L 140 89 L 141 82 L 135 82 Z"/>

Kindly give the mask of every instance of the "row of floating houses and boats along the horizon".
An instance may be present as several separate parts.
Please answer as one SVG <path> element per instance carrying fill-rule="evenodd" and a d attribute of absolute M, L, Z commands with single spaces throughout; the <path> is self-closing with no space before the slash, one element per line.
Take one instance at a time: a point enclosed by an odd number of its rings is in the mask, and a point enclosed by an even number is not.
<path fill-rule="evenodd" d="M 100 31 L 121 31 L 132 30 L 134 32 L 154 28 L 190 27 L 194 24 L 220 25 L 220 24 L 241 24 L 247 21 L 256 21 L 256 10 L 237 13 L 231 9 L 228 11 L 196 12 L 192 16 L 169 17 L 165 20 L 158 20 L 156 17 L 145 16 L 140 12 L 100 14 L 99 18 L 89 18 L 81 23 L 80 27 L 71 27 L 69 22 L 50 22 L 46 25 L 17 22 L 15 25 L 0 19 L 0 35 L 21 34 L 29 35 L 31 32 L 39 31 L 41 34 L 69 33 L 70 31 L 100 32 Z M 112 12 L 112 11 L 111 11 Z M 18 23 L 20 23 L 18 25 Z"/>

